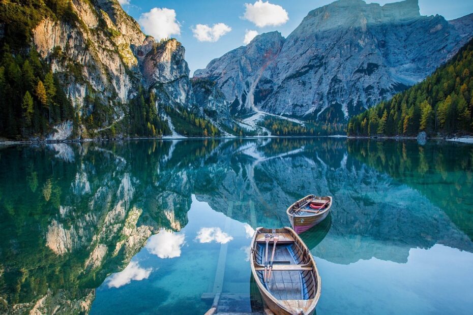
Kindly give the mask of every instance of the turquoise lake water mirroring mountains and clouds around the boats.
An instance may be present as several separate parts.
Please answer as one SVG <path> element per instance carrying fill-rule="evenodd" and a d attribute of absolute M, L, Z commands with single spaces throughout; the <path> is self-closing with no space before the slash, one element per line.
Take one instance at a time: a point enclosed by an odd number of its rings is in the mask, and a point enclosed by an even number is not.
<path fill-rule="evenodd" d="M 315 192 L 334 197 L 302 234 L 317 314 L 467 314 L 472 161 L 463 144 L 326 138 L 2 148 L 0 312 L 199 314 L 220 291 L 222 310 L 258 311 L 252 231 Z"/>

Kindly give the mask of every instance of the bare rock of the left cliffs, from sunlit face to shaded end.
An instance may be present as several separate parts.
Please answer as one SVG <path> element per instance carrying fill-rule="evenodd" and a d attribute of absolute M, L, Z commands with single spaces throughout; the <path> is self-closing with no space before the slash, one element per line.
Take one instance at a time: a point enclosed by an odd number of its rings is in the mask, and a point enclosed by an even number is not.
<path fill-rule="evenodd" d="M 5 4 L 1 8 L 4 12 L 0 13 L 15 21 L 9 12 L 18 6 L 21 4 L 16 2 Z M 200 89 L 194 93 L 181 43 L 175 39 L 158 43 L 144 35 L 116 0 L 70 0 L 61 13 L 49 6 L 34 2 L 25 9 L 40 18 L 28 40 L 32 43 L 24 45 L 33 44 L 52 73 L 60 77 L 67 98 L 86 127 L 82 127 L 82 133 L 87 129 L 88 134 L 97 134 L 113 126 L 126 136 L 124 126 L 128 120 L 122 120 L 132 111 L 130 102 L 140 97 L 140 88 L 146 89 L 146 96 L 154 94 L 154 106 L 161 118 L 167 118 L 164 106 L 185 108 L 203 117 L 203 109 L 218 108 L 229 117 L 224 100 L 218 96 L 201 97 Z M 0 23 L 4 30 L 0 42 L 12 33 L 8 30 L 13 24 Z M 197 103 L 196 98 L 203 103 Z M 91 114 L 95 120 L 90 118 Z M 215 122 L 217 126 L 218 122 Z M 58 135 L 70 137 L 72 123 L 57 125 L 56 130 L 50 139 L 58 139 Z"/>

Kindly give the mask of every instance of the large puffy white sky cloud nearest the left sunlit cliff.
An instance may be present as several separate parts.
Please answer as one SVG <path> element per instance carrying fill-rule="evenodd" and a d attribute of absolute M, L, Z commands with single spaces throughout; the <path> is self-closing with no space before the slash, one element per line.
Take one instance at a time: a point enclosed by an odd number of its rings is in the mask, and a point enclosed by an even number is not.
<path fill-rule="evenodd" d="M 156 40 L 181 35 L 181 24 L 176 20 L 176 12 L 172 9 L 151 9 L 150 12 L 141 14 L 138 22 L 143 27 L 144 33 Z"/>

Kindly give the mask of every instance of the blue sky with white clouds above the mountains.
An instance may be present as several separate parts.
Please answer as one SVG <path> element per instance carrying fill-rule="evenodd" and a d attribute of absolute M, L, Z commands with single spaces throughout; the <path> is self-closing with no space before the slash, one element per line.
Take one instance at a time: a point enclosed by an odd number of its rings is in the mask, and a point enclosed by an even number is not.
<path fill-rule="evenodd" d="M 186 60 L 192 75 L 196 69 L 205 68 L 213 58 L 244 45 L 246 33 L 249 33 L 248 36 L 251 38 L 256 32 L 261 34 L 278 30 L 286 37 L 309 11 L 332 3 L 333 0 L 269 0 L 269 2 L 267 0 L 119 0 L 119 2 L 128 14 L 140 22 L 146 34 L 159 37 L 170 33 L 170 37 L 178 39 L 186 48 Z M 367 0 L 366 2 L 383 5 L 397 1 Z M 419 7 L 423 15 L 440 14 L 448 20 L 473 13 L 471 0 L 419 0 Z"/>

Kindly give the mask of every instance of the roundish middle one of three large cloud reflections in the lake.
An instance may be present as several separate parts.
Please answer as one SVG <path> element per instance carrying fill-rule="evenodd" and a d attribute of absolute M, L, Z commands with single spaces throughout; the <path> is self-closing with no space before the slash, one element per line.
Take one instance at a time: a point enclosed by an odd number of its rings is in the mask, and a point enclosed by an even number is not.
<path fill-rule="evenodd" d="M 159 258 L 175 258 L 181 256 L 181 247 L 184 245 L 184 234 L 175 234 L 161 230 L 150 237 L 146 249 Z"/>

